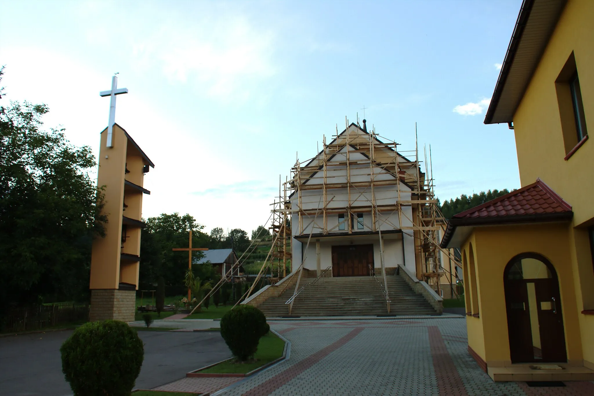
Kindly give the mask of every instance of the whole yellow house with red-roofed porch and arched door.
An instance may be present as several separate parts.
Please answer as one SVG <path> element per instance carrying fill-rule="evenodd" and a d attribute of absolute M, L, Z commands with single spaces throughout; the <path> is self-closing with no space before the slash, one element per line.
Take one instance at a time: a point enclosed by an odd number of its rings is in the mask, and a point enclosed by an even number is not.
<path fill-rule="evenodd" d="M 514 130 L 523 187 L 441 241 L 462 249 L 469 352 L 495 381 L 594 379 L 593 21 L 594 1 L 523 2 L 485 118 Z"/>

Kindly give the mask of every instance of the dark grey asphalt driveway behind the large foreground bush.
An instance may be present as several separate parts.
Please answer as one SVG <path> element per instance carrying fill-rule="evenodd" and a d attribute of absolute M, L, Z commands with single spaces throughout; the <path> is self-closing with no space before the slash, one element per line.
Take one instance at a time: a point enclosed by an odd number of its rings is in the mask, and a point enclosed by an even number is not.
<path fill-rule="evenodd" d="M 60 347 L 72 331 L 0 338 L 0 396 L 69 396 Z M 151 389 L 231 356 L 219 332 L 139 331 L 144 363 L 136 387 Z"/>

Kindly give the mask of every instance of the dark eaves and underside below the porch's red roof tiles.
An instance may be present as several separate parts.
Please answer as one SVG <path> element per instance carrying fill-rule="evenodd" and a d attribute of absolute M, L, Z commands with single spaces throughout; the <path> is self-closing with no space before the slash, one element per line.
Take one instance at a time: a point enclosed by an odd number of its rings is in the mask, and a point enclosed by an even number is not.
<path fill-rule="evenodd" d="M 442 249 L 462 247 L 467 238 L 477 227 L 498 225 L 523 225 L 535 223 L 566 222 L 573 218 L 573 212 L 544 213 L 522 216 L 493 216 L 489 218 L 451 219 L 441 240 Z"/>

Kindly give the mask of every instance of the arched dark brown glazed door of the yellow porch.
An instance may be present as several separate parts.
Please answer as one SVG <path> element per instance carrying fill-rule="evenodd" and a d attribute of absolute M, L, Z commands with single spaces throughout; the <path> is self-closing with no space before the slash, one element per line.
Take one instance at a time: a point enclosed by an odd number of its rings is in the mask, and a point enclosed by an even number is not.
<path fill-rule="evenodd" d="M 536 253 L 523 253 L 504 271 L 512 363 L 567 362 L 557 272 Z"/>

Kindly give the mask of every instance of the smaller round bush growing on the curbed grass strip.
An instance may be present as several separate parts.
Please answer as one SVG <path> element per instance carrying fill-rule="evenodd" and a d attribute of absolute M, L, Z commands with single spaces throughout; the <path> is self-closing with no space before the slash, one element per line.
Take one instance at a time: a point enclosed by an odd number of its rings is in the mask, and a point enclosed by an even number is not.
<path fill-rule="evenodd" d="M 242 362 L 254 356 L 260 337 L 270 329 L 264 313 L 251 305 L 240 305 L 226 312 L 220 325 L 221 335 L 233 356 Z"/>

